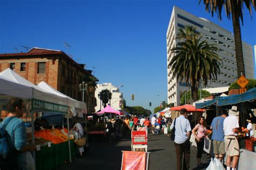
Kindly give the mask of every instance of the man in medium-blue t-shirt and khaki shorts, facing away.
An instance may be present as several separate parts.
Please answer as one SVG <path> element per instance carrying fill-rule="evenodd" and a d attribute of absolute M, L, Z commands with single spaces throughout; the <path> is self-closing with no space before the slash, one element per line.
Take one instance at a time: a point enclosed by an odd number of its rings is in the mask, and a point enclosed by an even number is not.
<path fill-rule="evenodd" d="M 223 122 L 226 117 L 227 113 L 223 113 L 221 116 L 215 117 L 211 123 L 213 153 L 215 158 L 221 162 L 225 154 Z"/>

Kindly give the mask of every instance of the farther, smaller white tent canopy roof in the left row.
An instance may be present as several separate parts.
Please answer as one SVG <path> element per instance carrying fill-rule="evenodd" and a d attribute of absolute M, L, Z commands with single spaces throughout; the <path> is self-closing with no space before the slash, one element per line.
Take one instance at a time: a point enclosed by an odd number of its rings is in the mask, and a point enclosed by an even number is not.
<path fill-rule="evenodd" d="M 55 88 L 51 87 L 49 84 L 45 83 L 44 81 L 40 82 L 39 84 L 37 84 L 37 86 L 45 91 L 48 91 L 51 94 L 55 94 L 58 95 L 60 97 L 66 97 L 68 98 L 68 106 L 69 107 L 74 107 L 74 108 L 78 108 L 78 109 L 84 109 L 85 110 L 85 114 L 87 114 L 87 107 L 86 107 L 86 103 L 77 101 L 69 96 L 66 96 L 65 94 L 61 93 L 60 91 L 56 90 Z"/>

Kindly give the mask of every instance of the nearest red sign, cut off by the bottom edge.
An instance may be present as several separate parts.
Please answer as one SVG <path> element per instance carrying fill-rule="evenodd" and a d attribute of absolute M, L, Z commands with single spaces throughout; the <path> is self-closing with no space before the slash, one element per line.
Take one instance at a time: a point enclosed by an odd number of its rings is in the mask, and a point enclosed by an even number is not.
<path fill-rule="evenodd" d="M 123 151 L 122 170 L 145 170 L 146 152 Z"/>

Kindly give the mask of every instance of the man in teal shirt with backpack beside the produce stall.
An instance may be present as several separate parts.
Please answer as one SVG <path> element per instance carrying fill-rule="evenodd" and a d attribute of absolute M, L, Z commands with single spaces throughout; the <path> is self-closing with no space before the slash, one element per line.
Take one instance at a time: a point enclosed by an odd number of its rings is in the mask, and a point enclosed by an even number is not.
<path fill-rule="evenodd" d="M 27 169 L 26 152 L 35 150 L 35 146 L 26 145 L 26 127 L 25 123 L 20 119 L 25 112 L 25 105 L 21 98 L 14 97 L 9 101 L 7 109 L 9 114 L 2 123 L 6 122 L 5 130 L 8 133 L 6 140 L 9 145 L 9 154 L 4 160 L 0 155 L 0 169 L 25 170 Z"/>

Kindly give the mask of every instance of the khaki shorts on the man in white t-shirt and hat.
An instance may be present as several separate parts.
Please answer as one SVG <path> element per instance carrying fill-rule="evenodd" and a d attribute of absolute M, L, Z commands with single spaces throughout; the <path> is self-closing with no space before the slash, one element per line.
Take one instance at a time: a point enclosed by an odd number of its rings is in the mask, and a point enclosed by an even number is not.
<path fill-rule="evenodd" d="M 225 140 L 226 155 L 230 157 L 239 156 L 240 150 L 239 150 L 237 137 L 225 136 L 224 140 Z M 228 146 L 228 144 L 230 144 L 230 146 Z"/>

